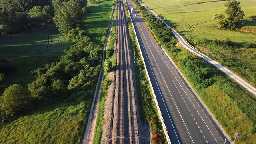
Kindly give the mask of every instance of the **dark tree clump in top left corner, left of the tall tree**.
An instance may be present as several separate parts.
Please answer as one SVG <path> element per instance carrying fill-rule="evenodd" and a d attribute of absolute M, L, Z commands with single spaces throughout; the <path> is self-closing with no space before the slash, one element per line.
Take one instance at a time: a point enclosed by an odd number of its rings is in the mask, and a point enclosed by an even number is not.
<path fill-rule="evenodd" d="M 3 0 L 2 3 L 4 8 L 0 10 L 0 36 L 38 28 L 52 22 L 54 11 L 50 1 Z"/>

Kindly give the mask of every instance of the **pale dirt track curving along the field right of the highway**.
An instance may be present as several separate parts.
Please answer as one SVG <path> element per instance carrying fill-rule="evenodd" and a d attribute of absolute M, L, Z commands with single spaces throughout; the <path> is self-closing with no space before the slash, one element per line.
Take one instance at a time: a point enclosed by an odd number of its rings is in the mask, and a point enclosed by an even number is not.
<path fill-rule="evenodd" d="M 140 2 L 140 1 L 138 0 L 138 2 Z M 142 2 L 140 2 L 140 4 L 142 4 Z M 150 10 L 149 8 L 147 8 L 144 4 L 142 4 L 142 6 L 144 6 L 144 8 L 146 8 L 147 10 L 152 12 L 156 16 L 156 18 L 162 20 L 154 11 Z M 162 20 L 162 22 L 164 22 L 164 21 Z M 166 24 L 166 26 L 168 28 L 171 28 L 168 24 Z M 248 90 L 249 92 L 251 92 L 252 94 L 254 94 L 256 96 L 256 88 L 254 88 L 251 84 L 249 84 L 248 82 L 244 81 L 242 78 L 240 78 L 239 76 L 237 76 L 236 74 L 234 74 L 233 72 L 231 72 L 230 70 L 228 70 L 227 68 L 225 68 L 224 66 L 222 66 L 221 64 L 216 62 L 215 60 L 213 60 L 212 58 L 209 58 L 208 56 L 198 52 L 198 50 L 196 50 L 196 48 L 191 46 L 180 34 L 178 34 L 178 32 L 176 32 L 176 30 L 174 30 L 173 28 L 171 28 L 171 29 L 172 29 L 173 34 L 176 36 L 176 38 L 178 38 L 179 42 L 182 44 L 182 46 L 184 48 L 186 48 L 190 52 L 193 52 L 194 54 L 204 58 L 204 60 L 206 60 L 206 61 L 210 62 L 211 64 L 213 64 L 214 66 L 216 66 L 222 72 L 224 72 L 225 74 L 230 76 L 233 80 L 235 80 L 236 82 L 241 84 L 244 88 L 246 88 L 246 90 Z"/>

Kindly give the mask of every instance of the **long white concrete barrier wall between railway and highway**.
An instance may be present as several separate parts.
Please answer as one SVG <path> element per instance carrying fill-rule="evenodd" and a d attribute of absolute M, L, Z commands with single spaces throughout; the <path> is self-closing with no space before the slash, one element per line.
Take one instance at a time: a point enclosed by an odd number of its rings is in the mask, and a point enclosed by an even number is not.
<path fill-rule="evenodd" d="M 126 0 L 125 0 L 125 2 L 126 2 Z M 126 5 L 127 5 L 127 2 L 126 2 Z M 127 5 L 127 6 L 128 6 L 128 5 Z M 131 17 L 130 8 L 128 7 L 128 9 L 129 9 L 129 10 L 128 10 L 129 15 L 130 15 L 130 17 Z M 154 96 L 154 101 L 155 101 L 155 103 L 156 103 L 156 108 L 157 108 L 157 111 L 158 111 L 158 114 L 159 114 L 159 116 L 160 116 L 163 129 L 164 129 L 164 134 L 165 134 L 165 136 L 166 136 L 166 140 L 167 140 L 168 144 L 171 144 L 171 140 L 170 140 L 168 131 L 167 131 L 166 126 L 165 126 L 165 123 L 164 123 L 164 119 L 163 119 L 163 116 L 162 116 L 162 112 L 161 112 L 161 110 L 160 110 L 160 108 L 159 108 L 158 101 L 157 101 L 157 99 L 156 99 L 156 94 L 155 94 L 155 92 L 154 92 L 154 88 L 153 88 L 153 86 L 152 86 L 152 83 L 151 83 L 151 80 L 150 80 L 150 77 L 149 77 L 149 74 L 148 74 L 148 70 L 147 70 L 147 68 L 146 68 L 146 63 L 145 63 L 144 57 L 143 57 L 143 55 L 142 55 L 142 51 L 141 51 L 141 48 L 140 48 L 138 36 L 137 36 L 137 34 L 136 34 L 136 30 L 135 30 L 133 21 L 132 21 L 132 26 L 133 26 L 133 30 L 134 30 L 134 33 L 135 33 L 135 36 L 136 36 L 136 41 L 137 41 L 138 46 L 139 46 L 140 56 L 142 57 L 143 65 L 144 65 L 144 68 L 145 68 L 145 70 L 146 70 L 146 75 L 147 75 L 147 77 L 148 77 L 148 81 L 149 81 L 149 84 L 150 84 L 150 88 L 151 88 L 152 94 L 153 94 L 153 96 Z"/>

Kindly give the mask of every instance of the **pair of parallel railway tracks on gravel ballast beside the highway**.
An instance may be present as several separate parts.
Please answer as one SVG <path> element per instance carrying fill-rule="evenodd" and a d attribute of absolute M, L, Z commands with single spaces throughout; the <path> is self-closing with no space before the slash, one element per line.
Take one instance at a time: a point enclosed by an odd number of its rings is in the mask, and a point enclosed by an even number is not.
<path fill-rule="evenodd" d="M 128 26 L 122 0 L 118 0 L 118 53 L 112 144 L 139 144 L 134 77 L 130 59 Z"/>

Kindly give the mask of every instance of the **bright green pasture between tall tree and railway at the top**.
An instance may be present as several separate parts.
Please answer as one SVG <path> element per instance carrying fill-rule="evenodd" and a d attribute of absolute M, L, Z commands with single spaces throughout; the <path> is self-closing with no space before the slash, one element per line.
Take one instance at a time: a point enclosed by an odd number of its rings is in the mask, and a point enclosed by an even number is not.
<path fill-rule="evenodd" d="M 112 0 L 98 0 L 98 4 L 88 5 L 90 12 L 86 14 L 82 29 L 86 30 L 93 42 L 104 45 L 108 26 L 110 25 Z"/>

